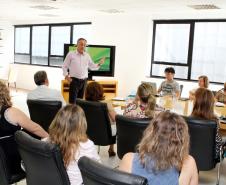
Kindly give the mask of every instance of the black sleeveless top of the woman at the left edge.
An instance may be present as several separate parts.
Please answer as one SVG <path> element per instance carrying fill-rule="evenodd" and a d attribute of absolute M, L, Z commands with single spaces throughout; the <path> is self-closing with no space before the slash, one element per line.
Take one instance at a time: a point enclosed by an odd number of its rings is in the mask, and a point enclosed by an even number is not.
<path fill-rule="evenodd" d="M 13 125 L 5 118 L 5 112 L 10 107 L 2 107 L 0 111 L 0 137 L 14 135 L 17 130 L 21 127 L 18 125 Z"/>

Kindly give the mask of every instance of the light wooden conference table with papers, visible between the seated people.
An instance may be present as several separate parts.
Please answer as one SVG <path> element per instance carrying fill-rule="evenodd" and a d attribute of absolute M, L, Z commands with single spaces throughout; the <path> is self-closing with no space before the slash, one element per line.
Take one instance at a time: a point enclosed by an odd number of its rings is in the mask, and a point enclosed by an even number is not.
<path fill-rule="evenodd" d="M 120 106 L 121 109 L 124 109 L 127 102 L 112 100 L 112 104 L 113 106 Z M 164 107 L 166 110 L 170 110 L 184 116 L 189 116 L 192 112 L 193 107 L 193 101 L 187 99 L 176 99 L 172 98 L 171 96 L 157 97 L 157 104 Z M 226 116 L 226 105 L 215 106 L 214 111 L 218 117 Z M 226 124 L 221 123 L 220 128 L 226 131 Z"/>

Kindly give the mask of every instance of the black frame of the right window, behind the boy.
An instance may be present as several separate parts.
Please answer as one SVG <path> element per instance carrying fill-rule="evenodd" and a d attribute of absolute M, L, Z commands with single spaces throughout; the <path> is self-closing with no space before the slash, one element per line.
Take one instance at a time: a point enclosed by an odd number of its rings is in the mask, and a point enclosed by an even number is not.
<path fill-rule="evenodd" d="M 188 67 L 187 78 L 175 78 L 181 81 L 197 81 L 191 79 L 191 69 L 192 69 L 192 56 L 193 56 L 193 46 L 194 46 L 194 32 L 195 32 L 195 23 L 200 22 L 226 22 L 226 19 L 183 19 L 183 20 L 153 20 L 153 35 L 152 35 L 152 54 L 151 54 L 151 69 L 150 69 L 150 77 L 153 78 L 165 78 L 164 76 L 152 75 L 152 69 L 154 64 L 165 65 L 165 66 L 184 66 Z M 189 43 L 188 43 L 188 56 L 187 56 L 187 64 L 182 63 L 173 63 L 173 62 L 161 62 L 154 61 L 154 52 L 155 52 L 155 39 L 156 39 L 156 25 L 157 24 L 189 24 L 190 25 L 190 33 L 189 33 Z M 200 74 L 201 75 L 201 74 Z M 223 84 L 222 82 L 214 82 L 214 84 Z"/>

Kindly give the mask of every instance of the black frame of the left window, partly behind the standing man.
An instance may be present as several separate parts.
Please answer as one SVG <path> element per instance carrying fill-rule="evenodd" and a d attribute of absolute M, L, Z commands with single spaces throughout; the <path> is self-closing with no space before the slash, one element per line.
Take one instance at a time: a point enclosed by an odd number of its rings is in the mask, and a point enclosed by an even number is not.
<path fill-rule="evenodd" d="M 53 24 L 26 24 L 26 25 L 14 25 L 14 63 L 15 64 L 22 64 L 22 65 L 33 65 L 33 66 L 42 66 L 42 67 L 57 67 L 61 68 L 61 66 L 50 65 L 50 58 L 51 57 L 64 57 L 63 55 L 51 55 L 51 28 L 52 27 L 62 27 L 62 26 L 70 26 L 70 43 L 73 44 L 73 27 L 75 25 L 92 25 L 91 22 L 76 22 L 76 23 L 53 23 Z M 48 64 L 32 64 L 32 34 L 33 34 L 33 27 L 35 26 L 49 26 L 49 35 L 48 35 Z M 29 45 L 29 53 L 26 55 L 30 56 L 29 63 L 21 63 L 15 61 L 15 55 L 20 55 L 23 53 L 16 53 L 16 28 L 30 28 L 30 45 Z M 25 55 L 25 54 L 23 54 Z"/>

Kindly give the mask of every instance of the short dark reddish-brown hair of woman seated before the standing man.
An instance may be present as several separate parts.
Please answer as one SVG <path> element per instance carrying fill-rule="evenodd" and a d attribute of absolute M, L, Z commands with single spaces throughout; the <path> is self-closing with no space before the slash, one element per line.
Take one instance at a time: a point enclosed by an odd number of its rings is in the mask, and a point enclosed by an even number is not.
<path fill-rule="evenodd" d="M 85 91 L 85 99 L 89 101 L 104 100 L 102 85 L 97 82 L 88 83 Z"/>

